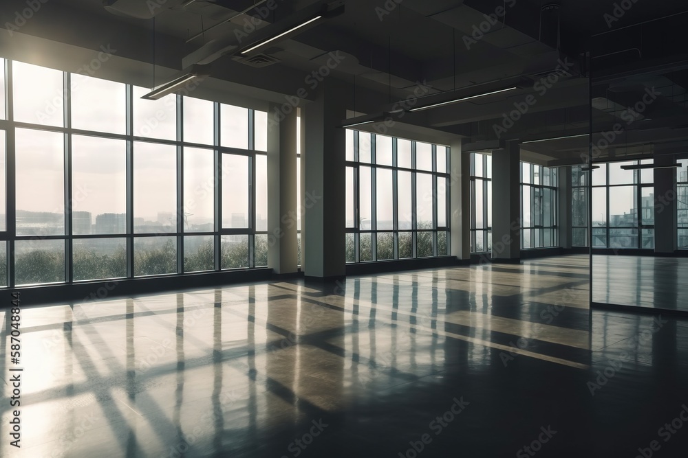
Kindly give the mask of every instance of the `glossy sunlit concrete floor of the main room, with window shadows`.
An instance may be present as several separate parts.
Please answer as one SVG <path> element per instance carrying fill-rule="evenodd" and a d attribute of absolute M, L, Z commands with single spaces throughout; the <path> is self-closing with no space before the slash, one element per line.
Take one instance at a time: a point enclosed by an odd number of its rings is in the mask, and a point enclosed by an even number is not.
<path fill-rule="evenodd" d="M 0 456 L 687 456 L 688 322 L 588 297 L 572 256 L 25 308 Z"/>

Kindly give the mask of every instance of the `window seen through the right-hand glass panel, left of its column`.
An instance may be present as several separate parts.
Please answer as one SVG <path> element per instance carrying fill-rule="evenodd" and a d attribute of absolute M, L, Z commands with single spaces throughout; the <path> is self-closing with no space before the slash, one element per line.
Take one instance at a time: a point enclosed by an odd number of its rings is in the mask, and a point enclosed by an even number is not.
<path fill-rule="evenodd" d="M 601 163 L 592 171 L 592 247 L 654 249 L 654 170 Z"/>

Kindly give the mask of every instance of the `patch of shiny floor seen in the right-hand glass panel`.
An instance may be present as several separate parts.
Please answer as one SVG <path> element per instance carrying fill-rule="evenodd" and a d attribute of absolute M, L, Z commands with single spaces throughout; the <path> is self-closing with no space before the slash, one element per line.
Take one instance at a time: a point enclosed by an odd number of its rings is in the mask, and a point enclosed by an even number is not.
<path fill-rule="evenodd" d="M 594 255 L 592 301 L 688 313 L 688 257 Z"/>

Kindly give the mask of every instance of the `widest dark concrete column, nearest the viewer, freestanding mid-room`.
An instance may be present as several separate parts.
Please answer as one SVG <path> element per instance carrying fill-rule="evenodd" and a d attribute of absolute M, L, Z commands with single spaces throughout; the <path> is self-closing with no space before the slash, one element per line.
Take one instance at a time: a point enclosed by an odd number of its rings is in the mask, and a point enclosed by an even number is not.
<path fill-rule="evenodd" d="M 314 102 L 304 107 L 305 150 L 301 157 L 304 183 L 301 255 L 306 277 L 332 279 L 345 275 L 346 170 L 345 130 L 348 91 L 335 80 L 317 88 Z"/>

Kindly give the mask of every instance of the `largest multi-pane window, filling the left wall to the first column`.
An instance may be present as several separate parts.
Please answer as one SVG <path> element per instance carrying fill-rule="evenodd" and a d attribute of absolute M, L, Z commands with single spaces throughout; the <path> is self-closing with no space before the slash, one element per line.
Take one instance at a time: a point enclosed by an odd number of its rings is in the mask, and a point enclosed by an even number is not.
<path fill-rule="evenodd" d="M 267 113 L 6 63 L 0 286 L 268 264 Z"/>

